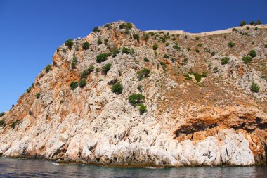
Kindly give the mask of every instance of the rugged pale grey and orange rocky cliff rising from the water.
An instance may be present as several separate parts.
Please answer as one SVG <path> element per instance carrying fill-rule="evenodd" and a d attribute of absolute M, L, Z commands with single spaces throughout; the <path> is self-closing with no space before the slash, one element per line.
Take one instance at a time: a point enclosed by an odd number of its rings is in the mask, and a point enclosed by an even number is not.
<path fill-rule="evenodd" d="M 127 166 L 265 164 L 267 30 L 257 27 L 193 35 L 117 22 L 63 44 L 0 117 L 0 155 Z M 252 49 L 256 56 L 245 63 Z M 84 71 L 86 85 L 71 89 Z M 117 82 L 122 94 L 112 92 Z M 145 96 L 145 113 L 131 94 Z"/>

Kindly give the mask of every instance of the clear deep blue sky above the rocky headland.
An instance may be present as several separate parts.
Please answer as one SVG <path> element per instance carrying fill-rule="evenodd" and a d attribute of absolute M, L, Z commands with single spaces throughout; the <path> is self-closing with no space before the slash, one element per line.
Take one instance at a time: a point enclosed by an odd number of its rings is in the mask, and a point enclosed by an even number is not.
<path fill-rule="evenodd" d="M 0 112 L 30 87 L 66 39 L 118 20 L 141 30 L 207 32 L 267 23 L 266 0 L 0 0 Z"/>

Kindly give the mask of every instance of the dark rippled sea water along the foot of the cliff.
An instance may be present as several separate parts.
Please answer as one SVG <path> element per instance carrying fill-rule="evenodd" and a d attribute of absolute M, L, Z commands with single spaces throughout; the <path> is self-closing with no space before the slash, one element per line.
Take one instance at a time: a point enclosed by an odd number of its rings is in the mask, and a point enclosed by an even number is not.
<path fill-rule="evenodd" d="M 267 177 L 266 166 L 121 168 L 0 158 L 0 177 Z"/>

